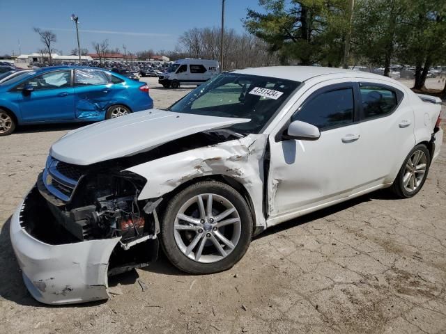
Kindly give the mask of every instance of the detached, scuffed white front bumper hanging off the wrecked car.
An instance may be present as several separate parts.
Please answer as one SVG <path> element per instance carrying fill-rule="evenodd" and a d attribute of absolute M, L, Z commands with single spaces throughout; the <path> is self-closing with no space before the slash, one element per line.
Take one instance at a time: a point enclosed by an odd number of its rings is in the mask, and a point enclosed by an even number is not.
<path fill-rule="evenodd" d="M 120 237 L 53 244 L 29 228 L 46 207 L 34 187 L 10 222 L 10 239 L 26 288 L 45 304 L 84 303 L 108 299 L 109 258 Z M 43 214 L 45 219 L 45 214 Z M 32 224 L 31 224 L 32 225 Z"/>

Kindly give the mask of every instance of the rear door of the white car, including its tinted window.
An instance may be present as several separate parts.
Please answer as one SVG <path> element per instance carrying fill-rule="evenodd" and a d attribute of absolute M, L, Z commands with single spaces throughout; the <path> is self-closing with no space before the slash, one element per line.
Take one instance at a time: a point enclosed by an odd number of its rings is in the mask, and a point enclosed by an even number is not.
<path fill-rule="evenodd" d="M 391 183 L 415 145 L 413 108 L 404 93 L 379 81 L 359 83 L 362 189 Z M 360 190 L 362 190 L 360 189 Z"/>

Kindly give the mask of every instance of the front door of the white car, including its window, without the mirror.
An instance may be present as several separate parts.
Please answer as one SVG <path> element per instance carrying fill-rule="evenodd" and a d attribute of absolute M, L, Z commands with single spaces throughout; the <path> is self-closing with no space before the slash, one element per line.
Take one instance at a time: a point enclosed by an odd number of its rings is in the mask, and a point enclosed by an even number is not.
<path fill-rule="evenodd" d="M 287 139 L 286 124 L 270 136 L 268 215 L 302 212 L 348 196 L 360 183 L 362 154 L 355 86 L 321 84 L 300 104 L 289 122 L 315 125 L 315 141 Z M 288 123 L 289 124 L 289 123 Z"/>

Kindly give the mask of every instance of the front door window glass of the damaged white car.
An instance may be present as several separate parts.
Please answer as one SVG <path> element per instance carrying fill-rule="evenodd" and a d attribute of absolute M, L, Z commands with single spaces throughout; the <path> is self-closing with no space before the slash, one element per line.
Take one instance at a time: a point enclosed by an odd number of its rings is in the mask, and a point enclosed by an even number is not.
<path fill-rule="evenodd" d="M 301 120 L 323 130 L 353 123 L 353 113 L 353 89 L 343 88 L 316 95 L 303 104 L 291 121 Z"/>

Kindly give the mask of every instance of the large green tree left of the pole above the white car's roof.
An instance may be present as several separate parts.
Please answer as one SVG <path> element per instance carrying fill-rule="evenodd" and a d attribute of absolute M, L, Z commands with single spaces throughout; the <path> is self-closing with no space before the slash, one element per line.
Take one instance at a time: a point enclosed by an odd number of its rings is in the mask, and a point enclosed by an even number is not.
<path fill-rule="evenodd" d="M 282 63 L 339 66 L 348 31 L 346 0 L 259 0 L 266 13 L 248 9 L 249 33 L 279 51 Z"/>

